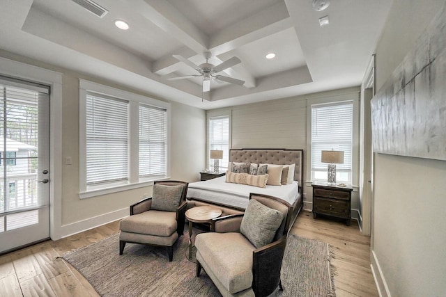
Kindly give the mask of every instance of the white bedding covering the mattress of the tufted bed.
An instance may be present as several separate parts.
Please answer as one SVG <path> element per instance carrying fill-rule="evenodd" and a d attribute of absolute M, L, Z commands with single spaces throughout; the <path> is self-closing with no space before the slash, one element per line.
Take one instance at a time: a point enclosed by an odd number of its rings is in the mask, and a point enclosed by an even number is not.
<path fill-rule="evenodd" d="M 226 177 L 217 177 L 203 182 L 192 182 L 187 188 L 187 198 L 197 198 L 209 202 L 226 204 L 245 209 L 248 205 L 249 193 L 272 195 L 293 204 L 298 198 L 298 182 L 282 186 L 259 188 L 245 184 L 225 182 Z"/>

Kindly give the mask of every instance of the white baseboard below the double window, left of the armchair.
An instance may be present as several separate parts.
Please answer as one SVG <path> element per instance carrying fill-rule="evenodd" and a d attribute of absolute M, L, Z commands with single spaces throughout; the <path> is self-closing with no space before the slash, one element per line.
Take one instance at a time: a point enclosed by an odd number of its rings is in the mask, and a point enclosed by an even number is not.
<path fill-rule="evenodd" d="M 116 211 L 112 211 L 107 214 L 101 214 L 100 216 L 93 216 L 92 218 L 86 218 L 85 220 L 79 220 L 76 223 L 63 225 L 61 227 L 61 235 L 62 235 L 62 237 L 67 237 L 67 236 L 70 236 L 73 234 L 77 234 L 79 232 L 84 232 L 84 231 L 90 230 L 94 227 L 105 225 L 105 224 L 113 222 L 115 220 L 125 218 L 129 214 L 130 213 L 129 213 L 128 207 L 125 207 L 123 209 L 118 209 Z"/>

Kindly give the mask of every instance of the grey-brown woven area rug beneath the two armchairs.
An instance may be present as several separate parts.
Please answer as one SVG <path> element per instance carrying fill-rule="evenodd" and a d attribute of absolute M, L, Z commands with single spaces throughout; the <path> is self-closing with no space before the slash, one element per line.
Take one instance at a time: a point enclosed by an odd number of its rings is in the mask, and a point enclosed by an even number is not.
<path fill-rule="evenodd" d="M 100 296 L 221 296 L 212 280 L 185 253 L 188 235 L 174 246 L 168 261 L 165 248 L 127 243 L 118 255 L 118 234 L 63 255 Z M 282 285 L 271 296 L 335 296 L 327 243 L 290 234 L 282 263 Z"/>

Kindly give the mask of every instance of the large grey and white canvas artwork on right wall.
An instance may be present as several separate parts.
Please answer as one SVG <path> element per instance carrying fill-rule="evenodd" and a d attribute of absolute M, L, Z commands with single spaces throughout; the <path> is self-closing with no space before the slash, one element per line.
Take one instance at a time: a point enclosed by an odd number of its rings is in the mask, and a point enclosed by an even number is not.
<path fill-rule="evenodd" d="M 374 152 L 446 160 L 446 7 L 371 100 Z"/>

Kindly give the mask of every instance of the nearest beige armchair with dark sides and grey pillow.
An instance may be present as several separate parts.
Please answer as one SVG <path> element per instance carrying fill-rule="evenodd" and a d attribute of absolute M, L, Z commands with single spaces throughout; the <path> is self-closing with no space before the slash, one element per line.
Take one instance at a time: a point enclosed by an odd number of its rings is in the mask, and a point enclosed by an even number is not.
<path fill-rule="evenodd" d="M 212 232 L 195 239 L 197 277 L 203 268 L 223 296 L 268 296 L 282 289 L 291 212 L 284 200 L 250 194 L 245 214 L 215 218 Z"/>

